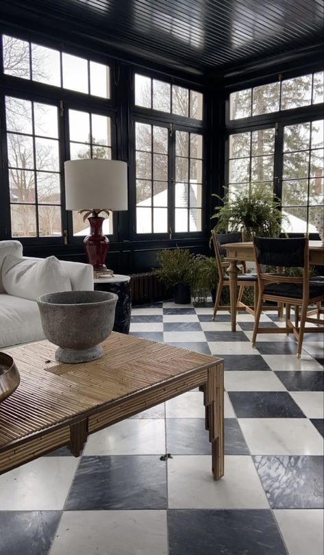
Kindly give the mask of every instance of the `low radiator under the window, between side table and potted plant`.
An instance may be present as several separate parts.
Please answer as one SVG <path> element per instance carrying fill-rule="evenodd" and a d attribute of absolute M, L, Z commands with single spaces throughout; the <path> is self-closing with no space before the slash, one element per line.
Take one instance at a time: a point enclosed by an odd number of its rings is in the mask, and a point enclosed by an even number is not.
<path fill-rule="evenodd" d="M 131 276 L 132 305 L 170 299 L 172 293 L 153 273 L 133 273 Z"/>

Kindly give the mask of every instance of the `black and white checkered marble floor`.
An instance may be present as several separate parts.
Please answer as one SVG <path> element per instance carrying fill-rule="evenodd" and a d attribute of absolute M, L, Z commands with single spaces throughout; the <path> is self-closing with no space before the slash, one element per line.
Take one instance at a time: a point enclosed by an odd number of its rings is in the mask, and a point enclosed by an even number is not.
<path fill-rule="evenodd" d="M 284 334 L 252 349 L 249 314 L 236 333 L 211 315 L 133 308 L 131 333 L 225 359 L 224 478 L 190 391 L 0 476 L 1 555 L 323 555 L 323 337 L 297 360 Z"/>

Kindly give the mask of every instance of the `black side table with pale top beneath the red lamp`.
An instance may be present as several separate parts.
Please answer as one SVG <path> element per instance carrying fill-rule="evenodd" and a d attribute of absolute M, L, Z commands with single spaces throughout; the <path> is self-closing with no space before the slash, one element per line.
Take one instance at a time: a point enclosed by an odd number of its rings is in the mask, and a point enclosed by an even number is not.
<path fill-rule="evenodd" d="M 95 291 L 109 291 L 118 295 L 116 304 L 114 332 L 129 333 L 132 315 L 132 292 L 129 275 L 115 274 L 110 277 L 97 277 Z"/>

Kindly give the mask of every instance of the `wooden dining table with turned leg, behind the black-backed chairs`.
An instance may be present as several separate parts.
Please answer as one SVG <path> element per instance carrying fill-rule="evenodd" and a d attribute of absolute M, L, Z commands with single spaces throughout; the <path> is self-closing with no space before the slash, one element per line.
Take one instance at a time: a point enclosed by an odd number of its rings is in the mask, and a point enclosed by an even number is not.
<path fill-rule="evenodd" d="M 253 243 L 225 243 L 222 248 L 226 249 L 226 258 L 229 260 L 229 295 L 231 304 L 231 323 L 232 332 L 236 332 L 236 304 L 238 298 L 238 262 L 254 261 Z M 310 241 L 310 265 L 311 266 L 324 266 L 324 244 L 322 241 Z"/>

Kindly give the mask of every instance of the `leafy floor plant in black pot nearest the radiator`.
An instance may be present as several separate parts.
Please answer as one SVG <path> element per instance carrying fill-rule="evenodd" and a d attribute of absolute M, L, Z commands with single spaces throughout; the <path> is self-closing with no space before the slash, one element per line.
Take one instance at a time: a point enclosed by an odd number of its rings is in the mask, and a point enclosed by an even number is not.
<path fill-rule="evenodd" d="M 190 303 L 190 286 L 195 276 L 195 256 L 188 249 L 163 249 L 156 256 L 159 268 L 153 269 L 158 280 L 173 287 L 175 303 Z"/>

